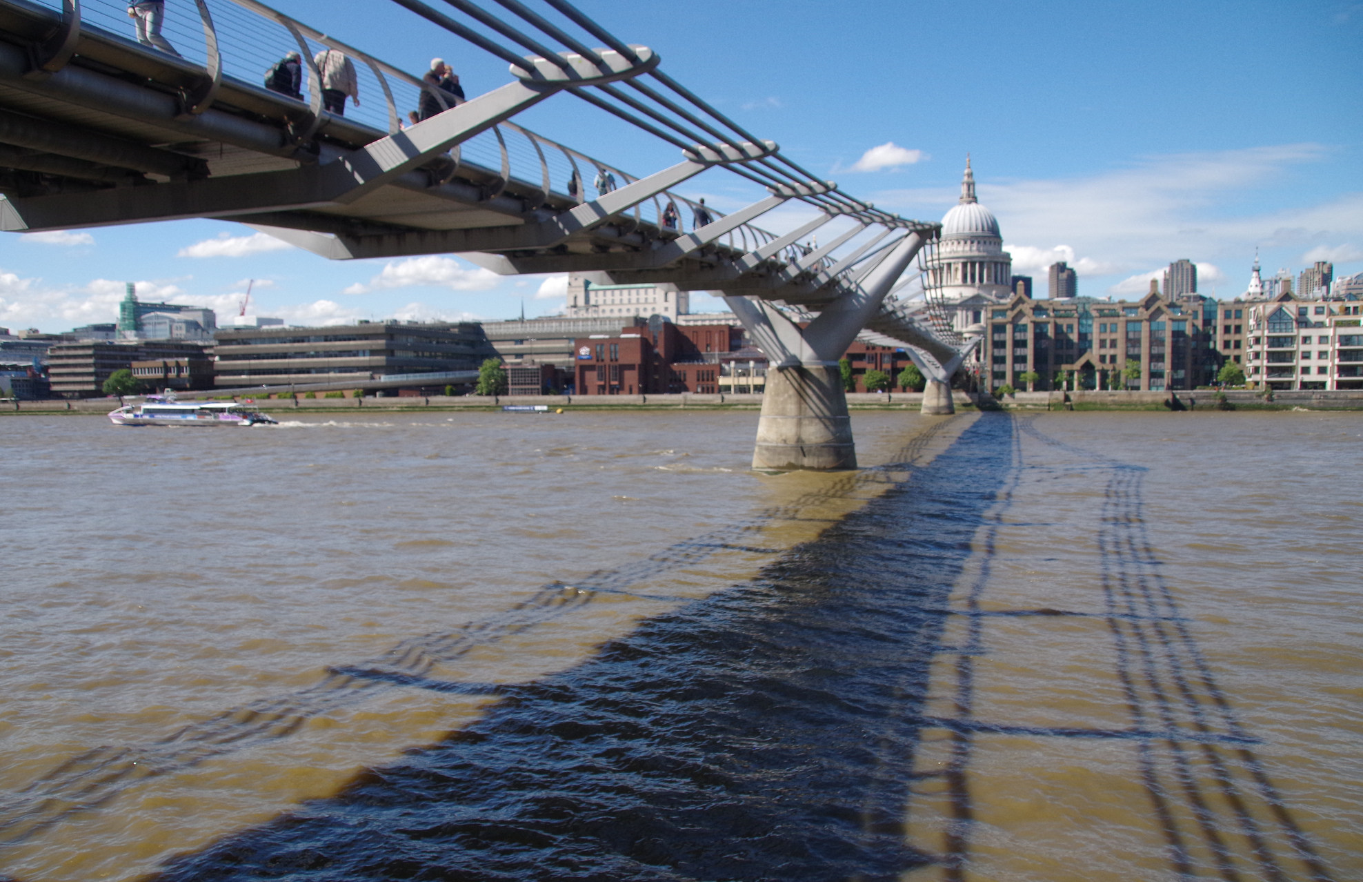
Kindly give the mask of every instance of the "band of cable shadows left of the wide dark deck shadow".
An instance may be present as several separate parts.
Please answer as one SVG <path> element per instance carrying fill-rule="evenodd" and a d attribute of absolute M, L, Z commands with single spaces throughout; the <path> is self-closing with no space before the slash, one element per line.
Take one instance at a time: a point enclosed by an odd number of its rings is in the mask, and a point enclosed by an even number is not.
<path fill-rule="evenodd" d="M 683 540 L 647 558 L 611 570 L 589 573 L 572 585 L 555 581 L 506 611 L 450 630 L 433 631 L 401 641 L 378 657 L 330 665 L 318 682 L 290 693 L 260 698 L 199 720 L 161 739 L 140 744 L 109 744 L 75 755 L 15 793 L 0 797 L 0 849 L 25 841 L 72 815 L 106 810 L 120 793 L 170 773 L 192 769 L 207 759 L 225 757 L 279 739 L 286 739 L 313 717 L 354 708 L 378 694 L 403 687 L 446 693 L 489 694 L 503 687 L 487 683 L 442 682 L 432 679 L 442 667 L 457 664 L 474 650 L 495 646 L 511 637 L 551 623 L 600 596 L 628 596 L 683 603 L 684 598 L 649 590 L 669 573 L 695 567 L 728 551 L 774 555 L 755 548 L 750 537 L 781 521 L 808 519 L 830 500 L 853 498 L 895 481 L 924 455 L 946 421 L 934 423 L 916 434 L 876 469 L 863 469 L 819 483 L 795 499 Z"/>

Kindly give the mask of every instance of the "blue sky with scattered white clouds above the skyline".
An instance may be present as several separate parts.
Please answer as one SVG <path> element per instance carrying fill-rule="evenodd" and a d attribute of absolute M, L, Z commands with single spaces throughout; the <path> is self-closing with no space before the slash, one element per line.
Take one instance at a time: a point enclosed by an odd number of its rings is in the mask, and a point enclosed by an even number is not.
<path fill-rule="evenodd" d="M 388 0 L 274 5 L 416 74 L 444 57 L 470 97 L 510 79 Z M 1139 294 L 1180 258 L 1198 263 L 1202 293 L 1234 297 L 1255 249 L 1265 275 L 1321 259 L 1363 271 L 1363 3 L 578 5 L 880 209 L 940 219 L 969 153 L 1014 273 L 1039 290 L 1055 260 L 1094 297 Z M 567 94 L 518 123 L 639 176 L 677 161 Z M 677 189 L 721 211 L 765 195 L 722 169 Z M 804 217 L 786 206 L 756 224 L 780 233 Z M 249 311 L 293 324 L 551 315 L 564 290 L 562 277 L 499 277 L 451 255 L 333 262 L 239 224 L 174 221 L 0 234 L 0 326 L 113 322 L 125 281 L 143 300 L 236 314 L 252 279 Z M 721 303 L 694 296 L 692 309 Z"/>

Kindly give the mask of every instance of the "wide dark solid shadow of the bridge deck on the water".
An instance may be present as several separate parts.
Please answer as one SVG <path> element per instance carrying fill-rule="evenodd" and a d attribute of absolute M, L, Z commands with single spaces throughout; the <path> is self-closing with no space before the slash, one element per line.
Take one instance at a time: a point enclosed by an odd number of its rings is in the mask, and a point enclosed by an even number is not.
<path fill-rule="evenodd" d="M 189 879 L 893 879 L 940 609 L 1013 417 L 733 590 L 169 864 Z"/>

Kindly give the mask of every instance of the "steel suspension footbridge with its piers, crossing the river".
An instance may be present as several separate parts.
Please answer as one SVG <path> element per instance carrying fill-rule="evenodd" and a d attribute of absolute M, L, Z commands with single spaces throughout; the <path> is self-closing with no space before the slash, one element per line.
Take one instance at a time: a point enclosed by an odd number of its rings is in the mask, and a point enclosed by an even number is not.
<path fill-rule="evenodd" d="M 856 466 L 837 361 L 859 335 L 910 354 L 924 412 L 953 410 L 951 376 L 979 339 L 930 290 L 897 296 L 921 288 L 910 267 L 939 225 L 818 180 L 566 0 L 393 1 L 506 61 L 508 82 L 461 101 L 256 0 L 164 5 L 164 31 L 143 22 L 140 41 L 121 1 L 0 0 L 0 229 L 222 218 L 333 260 L 458 254 L 500 274 L 714 290 L 774 368 L 754 468 Z M 326 109 L 315 56 L 328 49 L 383 102 Z M 300 97 L 255 74 L 289 52 Z M 423 93 L 436 112 L 408 123 Z M 512 121 L 551 98 L 675 146 L 677 162 L 638 177 Z M 725 215 L 673 192 L 711 168 L 766 198 Z M 589 199 L 602 172 L 617 185 Z M 786 203 L 815 217 L 785 234 L 754 224 Z M 684 232 L 679 213 L 699 225 Z"/>

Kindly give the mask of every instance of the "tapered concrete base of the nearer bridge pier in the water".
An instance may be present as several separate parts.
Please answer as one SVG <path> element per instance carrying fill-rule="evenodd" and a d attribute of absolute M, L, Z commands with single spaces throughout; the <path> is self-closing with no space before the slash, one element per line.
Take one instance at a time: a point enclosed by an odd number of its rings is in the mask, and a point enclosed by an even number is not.
<path fill-rule="evenodd" d="M 796 364 L 767 371 L 752 468 L 856 468 L 848 398 L 837 367 Z"/>

